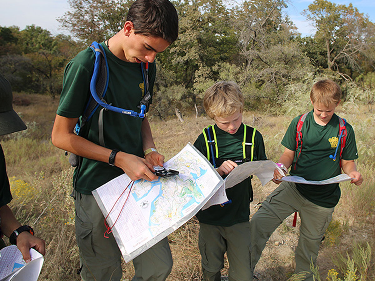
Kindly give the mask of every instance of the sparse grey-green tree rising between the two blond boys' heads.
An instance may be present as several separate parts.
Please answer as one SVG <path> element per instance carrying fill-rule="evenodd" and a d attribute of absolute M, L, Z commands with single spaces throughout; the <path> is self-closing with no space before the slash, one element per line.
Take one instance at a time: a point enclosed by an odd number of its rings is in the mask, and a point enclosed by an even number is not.
<path fill-rule="evenodd" d="M 239 34 L 242 87 L 249 105 L 284 102 L 285 87 L 312 71 L 294 37 L 296 27 L 283 15 L 283 0 L 245 1 L 233 8 Z"/>

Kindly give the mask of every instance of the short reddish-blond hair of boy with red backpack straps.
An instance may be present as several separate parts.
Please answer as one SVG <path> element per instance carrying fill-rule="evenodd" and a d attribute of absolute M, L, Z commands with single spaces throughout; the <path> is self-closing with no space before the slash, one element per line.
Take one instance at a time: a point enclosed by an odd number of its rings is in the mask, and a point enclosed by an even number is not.
<path fill-rule="evenodd" d="M 316 82 L 311 89 L 310 99 L 312 103 L 321 103 L 327 107 L 337 105 L 341 100 L 341 88 L 331 79 Z"/>

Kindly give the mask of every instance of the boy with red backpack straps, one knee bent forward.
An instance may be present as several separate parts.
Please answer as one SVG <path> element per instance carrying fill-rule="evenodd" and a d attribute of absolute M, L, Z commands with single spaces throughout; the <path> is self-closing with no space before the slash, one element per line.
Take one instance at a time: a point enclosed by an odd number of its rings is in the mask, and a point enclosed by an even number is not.
<path fill-rule="evenodd" d="M 337 176 L 342 168 L 353 178 L 351 183 L 362 184 L 362 175 L 354 163 L 358 153 L 353 128 L 346 122 L 341 124 L 341 118 L 334 113 L 341 100 L 340 87 L 329 79 L 318 81 L 312 87 L 310 98 L 314 109 L 291 122 L 281 142 L 285 151 L 279 163 L 286 168 L 291 167 L 291 175 L 311 181 Z M 344 133 L 345 145 L 342 141 Z M 273 181 L 279 184 L 283 176 L 275 170 Z M 301 226 L 295 253 L 295 272 L 310 272 L 310 263 L 315 264 L 317 260 L 320 242 L 340 195 L 337 183 L 311 185 L 282 182 L 251 218 L 252 269 L 273 231 L 285 218 L 298 211 Z M 308 274 L 305 280 L 313 280 L 312 274 Z"/>

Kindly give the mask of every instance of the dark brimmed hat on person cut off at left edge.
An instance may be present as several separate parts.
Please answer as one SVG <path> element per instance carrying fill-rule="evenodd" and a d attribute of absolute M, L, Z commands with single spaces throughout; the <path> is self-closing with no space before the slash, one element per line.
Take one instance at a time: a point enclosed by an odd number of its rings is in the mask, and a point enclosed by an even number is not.
<path fill-rule="evenodd" d="M 27 129 L 12 106 L 13 94 L 9 81 L 0 73 L 0 135 Z"/>

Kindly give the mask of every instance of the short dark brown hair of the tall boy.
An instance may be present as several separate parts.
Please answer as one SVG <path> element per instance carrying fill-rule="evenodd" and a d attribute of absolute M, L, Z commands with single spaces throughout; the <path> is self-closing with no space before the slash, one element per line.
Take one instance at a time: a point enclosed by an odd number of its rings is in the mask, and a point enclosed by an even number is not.
<path fill-rule="evenodd" d="M 162 37 L 169 43 L 177 39 L 177 11 L 168 0 L 136 0 L 126 20 L 133 23 L 135 34 Z"/>

